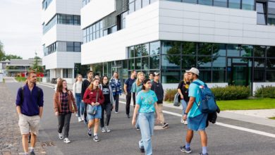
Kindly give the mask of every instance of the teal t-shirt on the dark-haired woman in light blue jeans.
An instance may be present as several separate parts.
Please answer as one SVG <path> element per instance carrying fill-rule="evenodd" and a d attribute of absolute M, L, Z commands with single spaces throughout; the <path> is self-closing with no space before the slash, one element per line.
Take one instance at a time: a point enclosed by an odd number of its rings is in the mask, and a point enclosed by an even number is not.
<path fill-rule="evenodd" d="M 152 113 L 155 111 L 154 103 L 157 102 L 157 95 L 154 91 L 140 91 L 136 97 L 137 104 L 140 105 L 139 113 Z"/>

